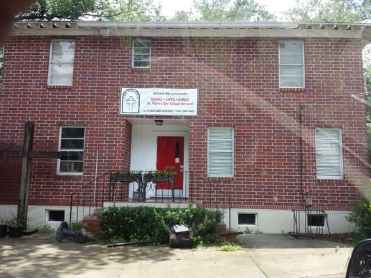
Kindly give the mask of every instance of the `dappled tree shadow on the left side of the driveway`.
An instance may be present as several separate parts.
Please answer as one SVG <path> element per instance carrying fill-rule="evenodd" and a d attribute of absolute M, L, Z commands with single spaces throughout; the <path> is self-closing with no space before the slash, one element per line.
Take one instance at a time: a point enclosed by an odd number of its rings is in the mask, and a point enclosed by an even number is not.
<path fill-rule="evenodd" d="M 81 245 L 54 238 L 0 238 L 0 277 L 65 277 L 100 270 L 105 265 L 147 261 L 171 256 L 167 246 L 115 247 Z"/>

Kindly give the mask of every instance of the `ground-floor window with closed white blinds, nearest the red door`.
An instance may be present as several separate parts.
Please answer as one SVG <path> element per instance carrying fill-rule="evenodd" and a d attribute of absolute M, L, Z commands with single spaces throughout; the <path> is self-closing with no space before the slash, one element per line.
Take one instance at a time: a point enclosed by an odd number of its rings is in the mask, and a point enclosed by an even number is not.
<path fill-rule="evenodd" d="M 232 127 L 210 127 L 207 134 L 207 175 L 233 177 L 234 144 Z"/>

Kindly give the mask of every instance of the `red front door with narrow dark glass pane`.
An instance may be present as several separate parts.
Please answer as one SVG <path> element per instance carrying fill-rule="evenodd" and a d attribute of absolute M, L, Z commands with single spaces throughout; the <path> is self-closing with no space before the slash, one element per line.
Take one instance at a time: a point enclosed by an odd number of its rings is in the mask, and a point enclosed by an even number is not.
<path fill-rule="evenodd" d="M 183 188 L 184 137 L 157 137 L 157 170 L 175 172 L 174 188 Z M 156 189 L 171 189 L 170 183 L 157 183 Z"/>

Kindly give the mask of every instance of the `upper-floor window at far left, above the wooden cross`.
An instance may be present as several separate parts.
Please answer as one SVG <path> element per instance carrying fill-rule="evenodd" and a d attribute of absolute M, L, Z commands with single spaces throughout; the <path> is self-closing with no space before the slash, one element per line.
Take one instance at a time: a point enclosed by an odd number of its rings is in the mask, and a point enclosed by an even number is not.
<path fill-rule="evenodd" d="M 52 40 L 49 57 L 49 85 L 72 85 L 73 40 Z"/>

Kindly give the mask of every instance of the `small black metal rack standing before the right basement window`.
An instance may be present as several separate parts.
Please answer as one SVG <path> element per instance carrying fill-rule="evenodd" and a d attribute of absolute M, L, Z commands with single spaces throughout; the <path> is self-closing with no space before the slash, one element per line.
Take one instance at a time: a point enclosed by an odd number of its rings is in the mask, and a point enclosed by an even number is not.
<path fill-rule="evenodd" d="M 329 220 L 325 211 L 313 210 L 310 208 L 294 209 L 292 236 L 315 237 L 330 234 Z M 324 233 L 326 231 L 326 233 Z"/>

